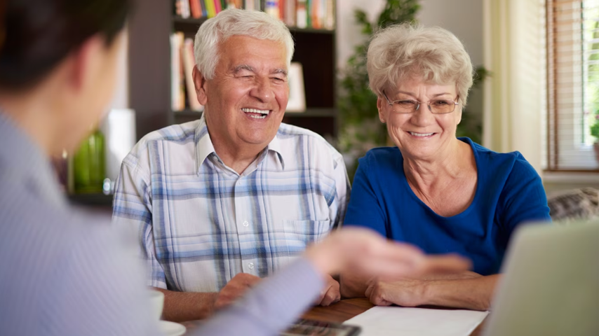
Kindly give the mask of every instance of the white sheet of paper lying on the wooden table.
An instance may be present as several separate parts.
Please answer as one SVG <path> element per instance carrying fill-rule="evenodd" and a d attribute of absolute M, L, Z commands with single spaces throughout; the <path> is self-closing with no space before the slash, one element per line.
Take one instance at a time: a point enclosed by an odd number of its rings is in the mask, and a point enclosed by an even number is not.
<path fill-rule="evenodd" d="M 345 321 L 362 327 L 360 336 L 468 336 L 488 311 L 373 307 Z"/>

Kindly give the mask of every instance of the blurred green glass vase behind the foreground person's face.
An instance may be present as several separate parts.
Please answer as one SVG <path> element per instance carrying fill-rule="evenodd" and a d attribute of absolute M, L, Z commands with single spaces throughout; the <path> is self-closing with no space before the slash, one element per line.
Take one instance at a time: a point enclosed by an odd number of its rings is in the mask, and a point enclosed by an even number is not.
<path fill-rule="evenodd" d="M 75 193 L 102 193 L 106 177 L 104 134 L 96 130 L 73 158 Z"/>

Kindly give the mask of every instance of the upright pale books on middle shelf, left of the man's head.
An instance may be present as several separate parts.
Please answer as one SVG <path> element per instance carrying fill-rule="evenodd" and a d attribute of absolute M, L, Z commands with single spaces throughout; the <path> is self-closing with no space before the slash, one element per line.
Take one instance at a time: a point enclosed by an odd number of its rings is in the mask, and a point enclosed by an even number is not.
<path fill-rule="evenodd" d="M 193 71 L 194 40 L 185 38 L 181 31 L 170 35 L 170 99 L 173 111 L 203 111 L 198 102 Z"/>

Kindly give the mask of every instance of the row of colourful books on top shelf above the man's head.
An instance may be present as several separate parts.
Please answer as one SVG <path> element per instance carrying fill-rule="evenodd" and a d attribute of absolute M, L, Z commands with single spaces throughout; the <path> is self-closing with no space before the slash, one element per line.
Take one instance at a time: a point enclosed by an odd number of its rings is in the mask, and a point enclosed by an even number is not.
<path fill-rule="evenodd" d="M 181 18 L 213 18 L 226 8 L 262 10 L 285 25 L 335 29 L 335 0 L 176 0 Z"/>

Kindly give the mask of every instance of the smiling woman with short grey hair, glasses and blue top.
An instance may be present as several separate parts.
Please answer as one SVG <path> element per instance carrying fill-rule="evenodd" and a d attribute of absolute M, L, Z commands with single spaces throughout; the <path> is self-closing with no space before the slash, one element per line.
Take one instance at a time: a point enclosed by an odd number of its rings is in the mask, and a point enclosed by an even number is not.
<path fill-rule="evenodd" d="M 344 225 L 372 228 L 427 253 L 459 253 L 474 272 L 393 282 L 342 274 L 346 297 L 374 304 L 485 310 L 514 229 L 551 221 L 541 179 L 518 152 L 456 138 L 473 70 L 449 31 L 396 25 L 368 48 L 370 87 L 397 147 L 361 158 Z"/>

